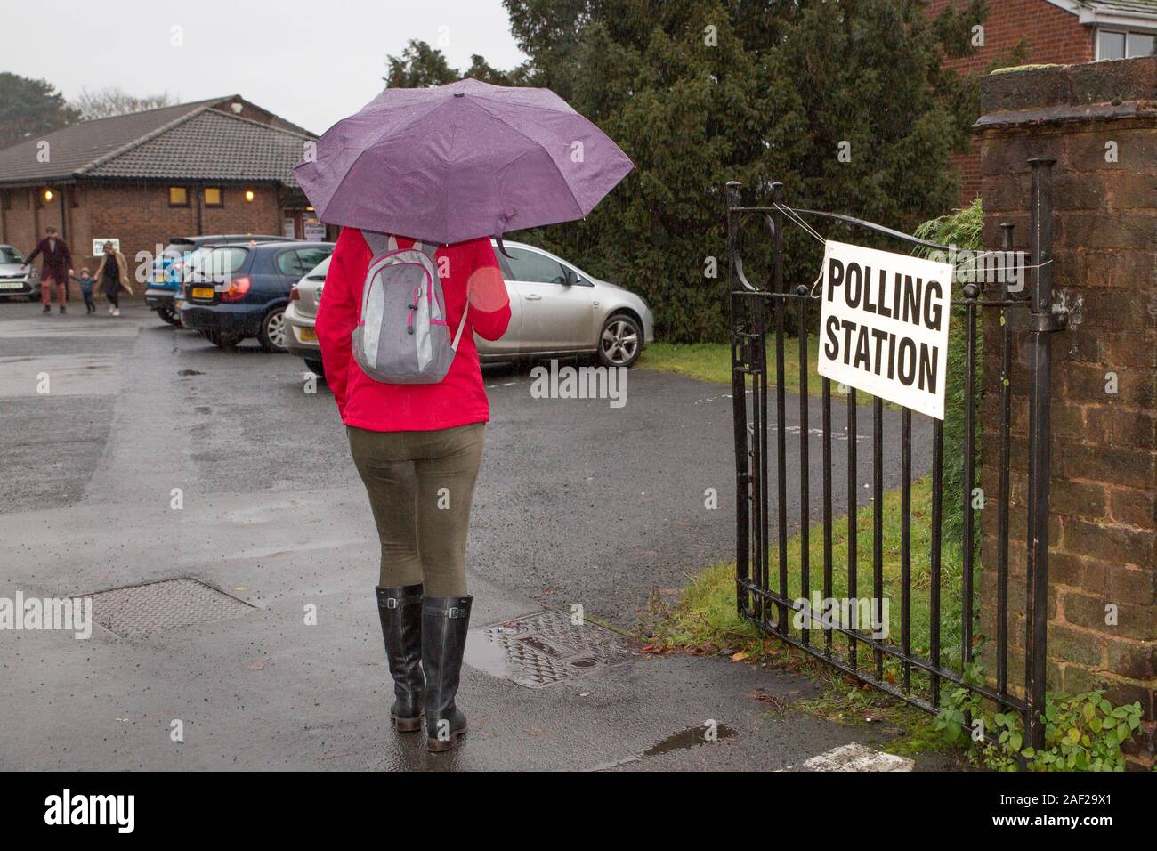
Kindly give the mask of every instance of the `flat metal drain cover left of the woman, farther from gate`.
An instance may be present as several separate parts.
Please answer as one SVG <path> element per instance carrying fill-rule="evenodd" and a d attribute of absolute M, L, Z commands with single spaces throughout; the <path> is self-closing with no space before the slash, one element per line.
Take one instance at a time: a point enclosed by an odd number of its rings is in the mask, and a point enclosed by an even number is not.
<path fill-rule="evenodd" d="M 87 595 L 93 619 L 121 637 L 213 623 L 253 610 L 246 602 L 196 579 L 167 579 Z"/>

